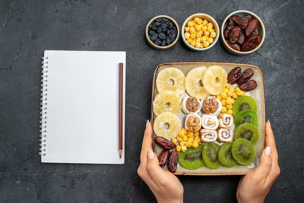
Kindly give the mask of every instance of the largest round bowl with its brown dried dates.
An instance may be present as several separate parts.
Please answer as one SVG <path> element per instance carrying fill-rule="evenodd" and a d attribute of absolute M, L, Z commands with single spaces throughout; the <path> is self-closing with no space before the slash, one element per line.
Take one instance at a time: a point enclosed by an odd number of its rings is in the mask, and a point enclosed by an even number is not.
<path fill-rule="evenodd" d="M 262 20 L 250 11 L 229 14 L 220 29 L 220 42 L 228 52 L 242 56 L 258 50 L 265 39 Z"/>

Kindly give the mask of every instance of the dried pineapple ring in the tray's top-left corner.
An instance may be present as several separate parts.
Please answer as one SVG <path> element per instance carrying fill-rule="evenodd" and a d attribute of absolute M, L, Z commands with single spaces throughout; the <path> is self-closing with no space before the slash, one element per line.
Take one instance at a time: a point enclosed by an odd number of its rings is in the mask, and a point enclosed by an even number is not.
<path fill-rule="evenodd" d="M 175 91 L 182 95 L 185 92 L 185 74 L 178 68 L 165 68 L 159 71 L 156 81 L 158 92 Z"/>

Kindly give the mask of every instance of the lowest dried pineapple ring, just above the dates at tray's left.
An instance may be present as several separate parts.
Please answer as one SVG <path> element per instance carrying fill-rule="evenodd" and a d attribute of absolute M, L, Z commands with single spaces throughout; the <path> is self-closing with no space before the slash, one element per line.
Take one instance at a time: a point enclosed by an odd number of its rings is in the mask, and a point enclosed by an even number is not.
<path fill-rule="evenodd" d="M 153 130 L 157 136 L 168 140 L 175 138 L 182 129 L 181 120 L 171 112 L 159 114 L 153 122 Z"/>

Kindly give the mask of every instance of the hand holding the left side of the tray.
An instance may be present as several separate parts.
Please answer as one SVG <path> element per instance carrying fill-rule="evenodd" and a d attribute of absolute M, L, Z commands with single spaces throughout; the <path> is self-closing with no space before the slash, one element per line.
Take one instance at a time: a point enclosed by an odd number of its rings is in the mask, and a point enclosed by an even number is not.
<path fill-rule="evenodd" d="M 183 185 L 175 175 L 159 166 L 158 158 L 152 151 L 152 125 L 149 120 L 142 141 L 137 173 L 149 186 L 158 203 L 183 202 Z"/>

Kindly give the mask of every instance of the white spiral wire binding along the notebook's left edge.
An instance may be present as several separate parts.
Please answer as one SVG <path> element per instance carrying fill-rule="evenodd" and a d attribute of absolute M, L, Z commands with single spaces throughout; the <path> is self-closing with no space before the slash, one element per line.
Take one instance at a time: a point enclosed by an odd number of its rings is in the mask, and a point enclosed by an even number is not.
<path fill-rule="evenodd" d="M 48 57 L 42 57 L 41 66 L 41 93 L 40 93 L 40 139 L 39 155 L 46 155 L 46 137 L 47 137 L 47 96 L 48 96 Z"/>

